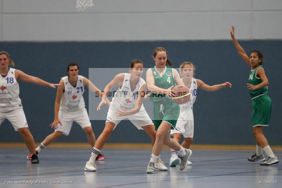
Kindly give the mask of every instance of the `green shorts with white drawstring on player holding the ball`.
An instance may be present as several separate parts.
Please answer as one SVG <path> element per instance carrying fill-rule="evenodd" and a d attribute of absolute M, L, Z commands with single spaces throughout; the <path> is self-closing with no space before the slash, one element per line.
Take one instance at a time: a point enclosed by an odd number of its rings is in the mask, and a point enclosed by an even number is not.
<path fill-rule="evenodd" d="M 171 125 L 175 129 L 177 119 L 179 118 L 180 107 L 175 102 L 166 102 L 165 104 L 155 103 L 153 106 L 153 122 L 157 131 L 162 121 Z"/>

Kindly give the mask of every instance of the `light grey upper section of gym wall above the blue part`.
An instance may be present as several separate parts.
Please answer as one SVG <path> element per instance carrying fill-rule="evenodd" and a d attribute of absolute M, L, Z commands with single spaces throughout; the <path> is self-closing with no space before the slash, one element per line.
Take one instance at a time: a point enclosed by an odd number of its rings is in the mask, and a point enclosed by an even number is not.
<path fill-rule="evenodd" d="M 0 0 L 2 41 L 282 39 L 281 0 Z M 1 19 L 0 19 L 1 20 Z"/>

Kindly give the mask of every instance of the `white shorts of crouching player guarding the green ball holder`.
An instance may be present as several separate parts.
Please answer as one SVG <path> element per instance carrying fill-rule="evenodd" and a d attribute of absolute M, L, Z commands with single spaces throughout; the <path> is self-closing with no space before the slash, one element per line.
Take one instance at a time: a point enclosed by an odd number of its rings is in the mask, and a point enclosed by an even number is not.
<path fill-rule="evenodd" d="M 144 126 L 154 125 L 153 121 L 151 120 L 151 118 L 149 117 L 149 115 L 147 114 L 143 106 L 140 108 L 139 112 L 137 112 L 136 114 L 129 115 L 129 116 L 117 117 L 116 116 L 117 110 L 119 110 L 119 108 L 111 104 L 109 107 L 108 114 L 107 114 L 106 123 L 112 122 L 115 124 L 115 127 L 112 130 L 114 130 L 117 127 L 118 123 L 125 118 L 128 118 L 130 122 L 133 123 L 133 125 L 136 128 L 138 128 L 139 130 L 140 129 L 143 130 L 142 127 Z"/>

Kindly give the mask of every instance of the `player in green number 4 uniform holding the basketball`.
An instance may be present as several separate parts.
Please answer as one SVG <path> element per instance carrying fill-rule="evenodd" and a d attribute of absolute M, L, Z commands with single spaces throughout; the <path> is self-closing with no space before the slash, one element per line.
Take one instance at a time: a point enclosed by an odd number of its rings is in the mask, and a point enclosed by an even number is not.
<path fill-rule="evenodd" d="M 151 101 L 153 102 L 153 121 L 155 125 L 156 141 L 153 146 L 151 159 L 147 166 L 146 173 L 155 173 L 155 163 L 162 151 L 163 144 L 174 149 L 180 155 L 180 170 L 184 170 L 187 161 L 192 154 L 190 149 L 184 149 L 177 141 L 170 138 L 169 131 L 175 129 L 175 125 L 180 113 L 179 104 L 173 102 L 169 97 L 175 96 L 172 87 L 184 85 L 177 70 L 172 69 L 171 61 L 167 58 L 167 51 L 158 47 L 153 52 L 155 66 L 147 70 L 146 81 L 149 91 L 151 91 Z M 169 66 L 166 66 L 168 64 Z"/>

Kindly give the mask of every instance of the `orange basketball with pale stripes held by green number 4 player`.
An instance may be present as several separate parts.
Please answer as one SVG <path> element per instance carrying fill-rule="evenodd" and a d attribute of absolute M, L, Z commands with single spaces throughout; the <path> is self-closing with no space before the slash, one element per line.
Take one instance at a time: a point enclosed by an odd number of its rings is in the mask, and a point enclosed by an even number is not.
<path fill-rule="evenodd" d="M 171 97 L 172 100 L 177 104 L 185 104 L 191 97 L 191 92 L 186 86 L 175 86 L 172 91 L 175 91 L 175 97 Z"/>

